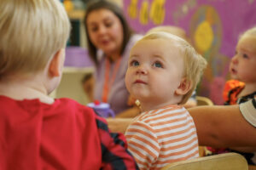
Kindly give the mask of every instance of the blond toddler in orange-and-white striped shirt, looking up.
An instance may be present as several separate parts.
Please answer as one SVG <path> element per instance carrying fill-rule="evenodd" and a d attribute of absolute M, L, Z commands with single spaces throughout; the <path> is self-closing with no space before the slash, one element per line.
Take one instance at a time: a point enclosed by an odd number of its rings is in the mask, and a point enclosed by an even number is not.
<path fill-rule="evenodd" d="M 199 156 L 195 124 L 182 105 L 206 65 L 189 42 L 164 31 L 148 33 L 131 48 L 125 84 L 143 113 L 125 137 L 140 169 Z"/>

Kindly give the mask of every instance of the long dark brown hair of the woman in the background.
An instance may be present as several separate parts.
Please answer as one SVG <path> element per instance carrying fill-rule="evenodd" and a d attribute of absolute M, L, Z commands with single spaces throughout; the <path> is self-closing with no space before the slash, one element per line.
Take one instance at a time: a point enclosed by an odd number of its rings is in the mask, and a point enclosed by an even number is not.
<path fill-rule="evenodd" d="M 122 9 L 119 8 L 119 6 L 117 6 L 116 4 L 110 3 L 106 0 L 105 1 L 103 1 L 103 0 L 102 1 L 91 1 L 90 3 L 88 3 L 87 8 L 85 9 L 85 15 L 84 15 L 84 28 L 85 28 L 85 32 L 86 32 L 86 36 L 87 36 L 87 46 L 88 46 L 90 58 L 95 62 L 96 66 L 98 65 L 98 61 L 96 59 L 96 50 L 97 49 L 96 49 L 95 45 L 90 41 L 88 29 L 86 26 L 86 21 L 87 21 L 88 15 L 91 12 L 98 10 L 98 9 L 102 9 L 102 8 L 112 11 L 113 14 L 115 14 L 119 18 L 121 25 L 123 26 L 124 38 L 123 38 L 123 44 L 121 46 L 122 47 L 121 54 L 123 54 L 126 44 L 127 44 L 127 42 L 129 42 L 130 37 L 133 32 L 131 30 L 130 26 L 128 25 L 127 21 L 125 20 L 125 16 L 123 14 Z"/>

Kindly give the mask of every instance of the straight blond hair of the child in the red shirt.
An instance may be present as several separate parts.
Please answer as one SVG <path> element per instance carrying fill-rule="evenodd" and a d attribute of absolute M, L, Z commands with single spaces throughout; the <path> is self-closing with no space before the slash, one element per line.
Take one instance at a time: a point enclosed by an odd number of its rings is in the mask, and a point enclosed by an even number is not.
<path fill-rule="evenodd" d="M 1 0 L 0 80 L 43 71 L 66 47 L 70 23 L 59 0 Z"/>

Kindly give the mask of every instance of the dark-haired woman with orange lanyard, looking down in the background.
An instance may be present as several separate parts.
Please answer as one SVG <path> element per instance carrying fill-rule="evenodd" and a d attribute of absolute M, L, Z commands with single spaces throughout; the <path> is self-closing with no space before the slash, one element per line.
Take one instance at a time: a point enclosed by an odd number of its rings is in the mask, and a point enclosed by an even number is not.
<path fill-rule="evenodd" d="M 142 36 L 131 31 L 122 9 L 116 4 L 93 1 L 85 11 L 88 50 L 96 66 L 94 100 L 108 103 L 116 115 L 122 116 L 123 111 L 126 116 L 136 115 L 137 106 L 128 102 L 125 71 L 130 49 Z"/>

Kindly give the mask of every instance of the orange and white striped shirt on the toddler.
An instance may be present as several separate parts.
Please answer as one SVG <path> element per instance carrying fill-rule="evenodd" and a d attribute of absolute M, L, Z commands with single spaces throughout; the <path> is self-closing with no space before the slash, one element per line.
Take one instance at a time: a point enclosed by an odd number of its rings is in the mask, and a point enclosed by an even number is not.
<path fill-rule="evenodd" d="M 141 170 L 199 156 L 194 121 L 182 106 L 143 112 L 131 122 L 125 137 Z"/>

